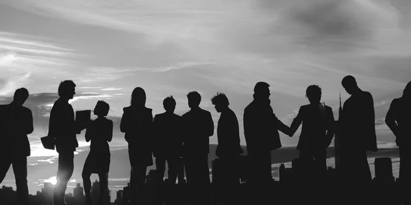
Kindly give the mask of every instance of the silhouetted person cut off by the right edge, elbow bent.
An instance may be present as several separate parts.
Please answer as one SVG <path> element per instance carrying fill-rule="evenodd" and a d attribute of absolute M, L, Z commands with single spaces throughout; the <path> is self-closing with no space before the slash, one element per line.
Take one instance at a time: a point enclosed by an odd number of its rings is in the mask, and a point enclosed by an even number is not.
<path fill-rule="evenodd" d="M 390 130 L 393 131 L 395 142 L 399 147 L 399 178 L 403 188 L 402 194 L 404 197 L 408 197 L 406 191 L 410 190 L 411 184 L 411 81 L 403 90 L 403 96 L 391 102 L 385 121 Z M 408 203 L 410 203 L 409 199 Z"/>

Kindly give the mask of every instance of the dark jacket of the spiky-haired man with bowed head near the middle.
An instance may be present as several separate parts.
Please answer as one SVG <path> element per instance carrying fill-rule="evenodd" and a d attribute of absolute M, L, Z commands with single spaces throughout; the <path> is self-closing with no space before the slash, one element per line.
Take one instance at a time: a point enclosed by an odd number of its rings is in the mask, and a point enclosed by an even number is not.
<path fill-rule="evenodd" d="M 236 156 L 244 151 L 240 146 L 240 131 L 236 113 L 232 109 L 222 112 L 217 126 L 217 139 L 219 144 L 216 156 Z"/>

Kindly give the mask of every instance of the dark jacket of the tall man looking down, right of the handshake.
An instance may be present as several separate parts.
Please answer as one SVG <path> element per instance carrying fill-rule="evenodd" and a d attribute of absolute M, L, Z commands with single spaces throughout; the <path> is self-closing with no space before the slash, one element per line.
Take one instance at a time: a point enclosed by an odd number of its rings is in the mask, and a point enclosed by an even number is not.
<path fill-rule="evenodd" d="M 377 152 L 373 96 L 360 91 L 352 94 L 343 105 L 341 146 Z M 353 143 L 356 142 L 356 143 Z"/>

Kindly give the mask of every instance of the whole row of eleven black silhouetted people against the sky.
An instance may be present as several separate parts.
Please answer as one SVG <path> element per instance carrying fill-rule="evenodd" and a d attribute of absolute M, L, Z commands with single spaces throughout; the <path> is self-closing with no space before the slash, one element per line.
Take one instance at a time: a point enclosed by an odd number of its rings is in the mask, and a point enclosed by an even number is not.
<path fill-rule="evenodd" d="M 270 196 L 271 151 L 282 147 L 279 132 L 292 137 L 302 124 L 297 150 L 303 169 L 313 170 L 318 178 L 324 178 L 327 170 L 326 149 L 338 134 L 340 146 L 340 177 L 344 183 L 366 185 L 371 183 L 371 172 L 367 161 L 367 151 L 377 152 L 375 135 L 375 111 L 373 96 L 362 91 L 352 76 L 343 78 L 342 85 L 350 94 L 340 109 L 338 123 L 334 120 L 331 107 L 321 102 L 321 87 L 310 85 L 306 97 L 310 104 L 300 107 L 290 126 L 286 126 L 273 113 L 270 101 L 270 85 L 258 82 L 254 87 L 253 101 L 245 108 L 243 115 L 244 135 L 247 143 L 249 162 L 250 194 L 253 202 L 266 202 Z M 73 174 L 74 152 L 78 147 L 76 135 L 86 129 L 86 141 L 90 142 L 90 152 L 84 163 L 82 178 L 86 193 L 86 205 L 92 204 L 90 197 L 90 175 L 99 174 L 100 197 L 108 187 L 110 149 L 113 122 L 108 115 L 110 105 L 99 100 L 94 109 L 96 120 L 90 124 L 75 121 L 73 107 L 69 100 L 75 95 L 75 83 L 62 81 L 58 87 L 60 98 L 55 101 L 49 119 L 48 136 L 55 140 L 58 156 L 58 183 L 54 188 L 53 204 L 64 204 L 66 185 Z M 1 140 L 4 146 L 0 162 L 1 181 L 10 165 L 16 177 L 18 200 L 28 204 L 27 156 L 30 155 L 27 135 L 33 132 L 32 112 L 23 107 L 29 97 L 25 88 L 16 90 L 14 100 L 9 105 L 1 105 Z M 199 107 L 201 95 L 198 92 L 187 94 L 190 111 L 180 116 L 174 113 L 176 102 L 173 96 L 163 101 L 164 113 L 155 115 L 145 107 L 146 94 L 141 87 L 132 92 L 131 105 L 123 108 L 120 131 L 125 133 L 128 143 L 129 161 L 132 167 L 130 176 L 130 203 L 138 204 L 145 196 L 145 176 L 147 167 L 157 167 L 156 200 L 162 204 L 162 180 L 165 163 L 169 167 L 168 192 L 173 191 L 177 173 L 184 166 L 188 184 L 188 202 L 210 203 L 210 176 L 208 167 L 209 137 L 214 135 L 214 122 L 210 111 Z M 212 99 L 217 112 L 221 113 L 216 129 L 218 146 L 216 156 L 221 162 L 223 202 L 238 204 L 239 175 L 238 155 L 244 151 L 240 146 L 240 128 L 236 113 L 229 108 L 229 100 L 223 93 Z M 411 82 L 408 83 L 401 98 L 393 100 L 386 115 L 386 124 L 393 131 L 399 146 L 401 168 L 400 178 L 408 187 L 410 181 L 410 138 L 411 129 Z M 1 182 L 0 181 L 0 182 Z M 248 181 L 247 181 L 248 182 Z M 175 199 L 171 199 L 175 202 Z"/>

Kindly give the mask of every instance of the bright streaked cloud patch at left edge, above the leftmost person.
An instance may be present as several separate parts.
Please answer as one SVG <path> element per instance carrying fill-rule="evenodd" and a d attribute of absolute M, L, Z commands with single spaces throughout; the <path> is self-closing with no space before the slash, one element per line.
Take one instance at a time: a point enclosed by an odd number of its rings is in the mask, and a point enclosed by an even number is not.
<path fill-rule="evenodd" d="M 42 40 L 45 39 L 40 36 L 0 33 L 0 75 L 6 81 L 0 84 L 0 95 L 10 94 L 32 81 L 46 79 L 46 73 L 47 77 L 53 77 L 68 72 L 65 69 L 73 65 L 69 57 L 75 55 L 75 50 Z"/>

